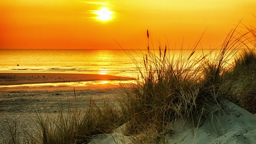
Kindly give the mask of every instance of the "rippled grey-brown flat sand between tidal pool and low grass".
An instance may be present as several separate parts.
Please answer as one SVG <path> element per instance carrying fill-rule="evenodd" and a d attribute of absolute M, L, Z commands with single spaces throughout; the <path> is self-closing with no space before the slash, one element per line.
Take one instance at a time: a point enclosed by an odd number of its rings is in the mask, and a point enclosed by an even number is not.
<path fill-rule="evenodd" d="M 75 103 L 78 109 L 84 110 L 84 107 L 90 103 L 90 99 L 99 105 L 105 100 L 114 101 L 113 94 L 117 91 L 116 83 L 90 81 L 86 84 L 87 86 L 70 86 L 60 83 L 59 86 L 49 84 L 0 87 L 0 144 L 3 143 L 2 136 L 9 138 L 8 124 L 14 127 L 15 120 L 20 140 L 23 140 L 24 131 L 35 134 L 38 131 L 33 122 L 37 120 L 35 112 L 40 112 L 45 117 L 51 113 L 51 116 L 55 117 L 61 109 L 65 112 L 72 107 L 70 105 L 72 103 Z"/>

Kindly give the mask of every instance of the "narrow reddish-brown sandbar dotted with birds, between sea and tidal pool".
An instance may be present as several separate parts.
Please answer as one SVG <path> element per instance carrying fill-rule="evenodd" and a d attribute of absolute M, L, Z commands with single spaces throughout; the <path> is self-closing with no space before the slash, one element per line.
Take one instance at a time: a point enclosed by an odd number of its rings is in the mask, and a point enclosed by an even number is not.
<path fill-rule="evenodd" d="M 124 76 L 86 73 L 0 73 L 0 85 L 133 79 L 134 78 Z"/>

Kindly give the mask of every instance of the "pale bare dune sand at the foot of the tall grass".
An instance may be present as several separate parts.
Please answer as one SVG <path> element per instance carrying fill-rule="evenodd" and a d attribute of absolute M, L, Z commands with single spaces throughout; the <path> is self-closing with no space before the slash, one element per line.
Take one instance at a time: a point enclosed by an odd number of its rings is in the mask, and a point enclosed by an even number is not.
<path fill-rule="evenodd" d="M 256 115 L 225 101 L 225 107 L 216 108 L 213 121 L 204 120 L 198 128 L 188 122 L 177 120 L 164 134 L 166 144 L 255 144 Z M 122 135 L 120 130 L 112 134 L 93 136 L 88 144 L 128 144 L 133 137 Z"/>

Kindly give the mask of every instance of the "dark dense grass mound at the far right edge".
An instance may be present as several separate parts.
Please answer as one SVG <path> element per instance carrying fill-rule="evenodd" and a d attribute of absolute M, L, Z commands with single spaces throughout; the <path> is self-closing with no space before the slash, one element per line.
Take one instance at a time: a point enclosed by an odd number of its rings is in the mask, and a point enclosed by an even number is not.
<path fill-rule="evenodd" d="M 246 49 L 236 55 L 233 70 L 228 74 L 230 93 L 227 98 L 256 114 L 256 52 Z"/>

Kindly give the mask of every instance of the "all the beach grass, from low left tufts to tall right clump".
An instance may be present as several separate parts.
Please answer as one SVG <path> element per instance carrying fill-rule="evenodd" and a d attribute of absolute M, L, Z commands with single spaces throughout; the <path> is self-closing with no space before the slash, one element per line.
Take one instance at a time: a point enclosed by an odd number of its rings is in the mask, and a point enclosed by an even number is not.
<path fill-rule="evenodd" d="M 165 143 L 165 134 L 172 133 L 170 126 L 177 120 L 191 123 L 197 135 L 200 123 L 214 117 L 212 105 L 221 109 L 224 99 L 255 114 L 255 30 L 241 34 L 233 29 L 220 47 L 196 55 L 200 40 L 178 55 L 168 45 L 153 50 L 149 43 L 141 59 L 126 51 L 138 76 L 120 85 L 117 106 L 91 101 L 83 111 L 73 107 L 54 117 L 37 112 L 38 133 L 26 134 L 22 143 L 88 143 L 93 135 L 112 133 L 122 125 L 122 133 L 132 136 L 133 143 Z M 17 143 L 13 128 L 4 143 Z"/>

